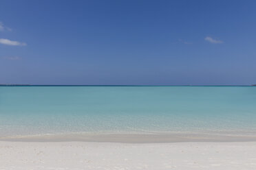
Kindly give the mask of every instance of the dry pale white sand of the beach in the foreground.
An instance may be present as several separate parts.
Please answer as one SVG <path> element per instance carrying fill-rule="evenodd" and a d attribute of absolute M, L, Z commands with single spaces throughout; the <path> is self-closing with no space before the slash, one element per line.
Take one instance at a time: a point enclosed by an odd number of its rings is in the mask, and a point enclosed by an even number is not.
<path fill-rule="evenodd" d="M 256 169 L 256 142 L 0 142 L 0 169 Z"/>

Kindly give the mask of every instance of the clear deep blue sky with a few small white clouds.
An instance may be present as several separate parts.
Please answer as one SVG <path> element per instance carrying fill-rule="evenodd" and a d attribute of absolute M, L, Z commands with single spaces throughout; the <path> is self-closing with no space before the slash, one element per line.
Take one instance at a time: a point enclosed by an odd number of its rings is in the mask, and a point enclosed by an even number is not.
<path fill-rule="evenodd" d="M 256 1 L 0 1 L 0 84 L 256 84 Z"/>

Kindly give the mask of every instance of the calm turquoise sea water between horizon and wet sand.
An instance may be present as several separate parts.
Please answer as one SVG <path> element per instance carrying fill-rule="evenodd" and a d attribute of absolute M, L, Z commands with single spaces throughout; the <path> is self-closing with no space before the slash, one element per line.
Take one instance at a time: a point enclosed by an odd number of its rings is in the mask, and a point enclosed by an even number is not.
<path fill-rule="evenodd" d="M 253 86 L 0 86 L 0 136 L 256 132 Z"/>

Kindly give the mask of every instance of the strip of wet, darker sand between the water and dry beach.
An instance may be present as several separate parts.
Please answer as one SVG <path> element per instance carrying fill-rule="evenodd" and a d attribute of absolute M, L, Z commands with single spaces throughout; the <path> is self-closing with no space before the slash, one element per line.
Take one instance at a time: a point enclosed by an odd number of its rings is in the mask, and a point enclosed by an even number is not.
<path fill-rule="evenodd" d="M 156 133 L 156 134 L 43 134 L 1 137 L 12 142 L 98 142 L 98 143 L 191 143 L 191 142 L 256 142 L 253 133 Z"/>

